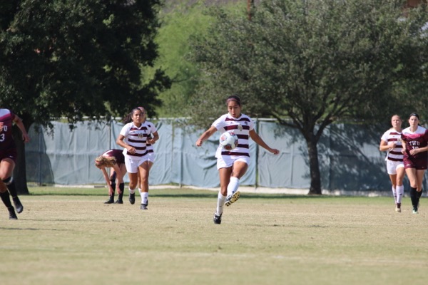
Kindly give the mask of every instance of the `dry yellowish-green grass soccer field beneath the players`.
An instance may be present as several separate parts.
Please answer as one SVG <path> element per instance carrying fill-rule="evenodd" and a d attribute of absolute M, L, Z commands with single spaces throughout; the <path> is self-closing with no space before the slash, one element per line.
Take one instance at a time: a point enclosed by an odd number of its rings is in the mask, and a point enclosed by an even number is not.
<path fill-rule="evenodd" d="M 30 188 L 0 212 L 0 284 L 427 284 L 428 200 L 151 190 L 147 211 L 106 189 Z"/>

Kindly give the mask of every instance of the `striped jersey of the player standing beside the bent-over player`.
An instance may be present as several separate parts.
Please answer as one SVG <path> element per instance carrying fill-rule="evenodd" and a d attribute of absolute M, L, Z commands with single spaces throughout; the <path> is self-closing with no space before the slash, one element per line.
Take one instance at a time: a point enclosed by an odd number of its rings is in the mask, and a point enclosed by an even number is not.
<path fill-rule="evenodd" d="M 123 155 L 128 155 L 131 160 L 139 160 L 149 152 L 153 152 L 153 147 L 147 145 L 146 141 L 151 137 L 152 133 L 156 133 L 157 129 L 151 122 L 144 122 L 138 128 L 132 122 L 123 126 L 121 135 L 126 144 L 131 145 L 136 149 L 136 153 L 129 153 L 126 148 L 123 150 Z"/>

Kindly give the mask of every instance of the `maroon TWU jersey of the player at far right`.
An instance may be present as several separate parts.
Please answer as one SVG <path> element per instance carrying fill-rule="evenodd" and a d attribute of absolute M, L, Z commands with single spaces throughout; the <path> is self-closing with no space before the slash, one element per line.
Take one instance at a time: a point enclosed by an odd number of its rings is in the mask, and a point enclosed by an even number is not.
<path fill-rule="evenodd" d="M 405 128 L 402 132 L 401 138 L 406 142 L 406 153 L 404 153 L 404 159 L 408 157 L 422 159 L 427 158 L 428 152 L 419 152 L 416 155 L 410 155 L 410 150 L 426 147 L 428 145 L 428 130 L 426 128 L 418 125 L 415 132 L 410 131 L 410 127 Z"/>

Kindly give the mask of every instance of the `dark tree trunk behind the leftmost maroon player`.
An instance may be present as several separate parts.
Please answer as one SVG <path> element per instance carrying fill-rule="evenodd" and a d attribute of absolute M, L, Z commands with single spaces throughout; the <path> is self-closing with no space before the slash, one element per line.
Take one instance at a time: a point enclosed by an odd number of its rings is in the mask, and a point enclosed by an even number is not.
<path fill-rule="evenodd" d="M 22 133 L 16 125 L 12 128 L 14 140 L 16 144 L 16 151 L 18 157 L 16 159 L 16 165 L 14 169 L 14 181 L 16 186 L 16 192 L 19 195 L 29 195 L 29 188 L 26 185 L 26 163 L 25 163 L 25 144 L 22 140 Z"/>

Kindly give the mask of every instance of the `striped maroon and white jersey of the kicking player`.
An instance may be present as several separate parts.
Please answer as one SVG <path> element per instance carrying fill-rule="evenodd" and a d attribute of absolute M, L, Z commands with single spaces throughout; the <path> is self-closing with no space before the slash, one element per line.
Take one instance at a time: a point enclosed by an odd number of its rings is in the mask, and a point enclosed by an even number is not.
<path fill-rule="evenodd" d="M 238 146 L 233 150 L 225 150 L 220 142 L 215 152 L 215 157 L 221 155 L 245 155 L 250 156 L 250 130 L 254 129 L 253 120 L 248 115 L 241 114 L 239 118 L 233 118 L 229 113 L 215 120 L 213 127 L 220 133 L 233 132 L 238 136 Z"/>

